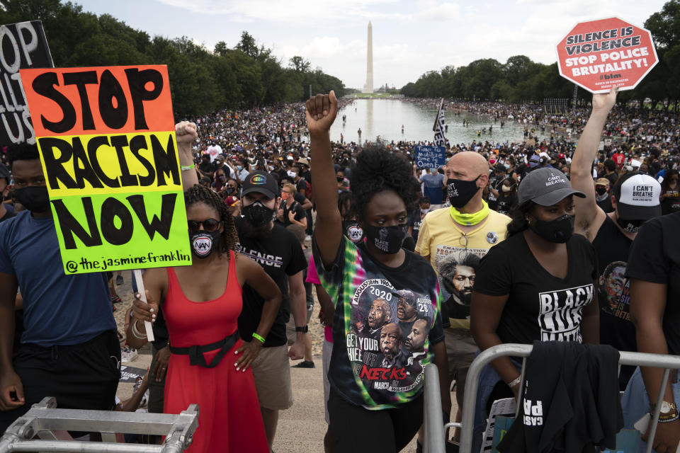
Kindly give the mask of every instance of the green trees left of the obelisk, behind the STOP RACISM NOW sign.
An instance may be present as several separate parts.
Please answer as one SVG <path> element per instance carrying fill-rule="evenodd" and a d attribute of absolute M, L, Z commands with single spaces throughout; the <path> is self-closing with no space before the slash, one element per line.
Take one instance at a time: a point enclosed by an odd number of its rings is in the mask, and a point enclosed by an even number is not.
<path fill-rule="evenodd" d="M 251 108 L 304 101 L 313 93 L 344 84 L 302 57 L 283 64 L 271 49 L 258 46 L 243 32 L 234 47 L 217 42 L 214 50 L 191 38 L 154 36 L 125 25 L 108 14 L 96 16 L 60 0 L 4 0 L 0 23 L 42 21 L 56 67 L 167 64 L 173 108 L 178 117 L 203 115 L 223 108 Z"/>

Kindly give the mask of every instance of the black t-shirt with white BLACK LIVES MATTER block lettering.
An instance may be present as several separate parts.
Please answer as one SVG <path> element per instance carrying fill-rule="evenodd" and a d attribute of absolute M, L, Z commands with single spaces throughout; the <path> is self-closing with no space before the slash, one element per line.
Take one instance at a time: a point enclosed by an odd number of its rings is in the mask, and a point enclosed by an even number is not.
<path fill-rule="evenodd" d="M 581 319 L 594 300 L 595 250 L 583 236 L 567 241 L 565 279 L 550 274 L 533 256 L 523 234 L 489 249 L 477 271 L 475 291 L 508 294 L 496 332 L 503 343 L 582 342 Z"/>

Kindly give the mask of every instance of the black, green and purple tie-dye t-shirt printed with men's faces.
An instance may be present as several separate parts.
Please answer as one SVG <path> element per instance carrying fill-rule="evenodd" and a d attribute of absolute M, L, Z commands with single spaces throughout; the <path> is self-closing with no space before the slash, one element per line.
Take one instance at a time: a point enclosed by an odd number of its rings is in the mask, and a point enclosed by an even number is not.
<path fill-rule="evenodd" d="M 321 256 L 315 239 L 313 247 Z M 437 276 L 427 260 L 405 252 L 402 265 L 388 268 L 343 237 L 330 270 L 315 260 L 337 301 L 328 379 L 346 401 L 371 410 L 419 396 L 431 345 L 444 338 Z"/>

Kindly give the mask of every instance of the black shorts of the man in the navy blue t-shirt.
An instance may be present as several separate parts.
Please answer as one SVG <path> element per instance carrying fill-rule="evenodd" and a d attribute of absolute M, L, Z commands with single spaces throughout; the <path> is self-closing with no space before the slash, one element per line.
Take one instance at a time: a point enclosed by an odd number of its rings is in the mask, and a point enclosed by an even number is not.
<path fill-rule="evenodd" d="M 26 403 L 0 412 L 0 433 L 45 396 L 57 408 L 109 411 L 120 380 L 120 344 L 115 331 L 85 343 L 43 348 L 25 343 L 14 353 L 14 371 L 21 377 Z"/>

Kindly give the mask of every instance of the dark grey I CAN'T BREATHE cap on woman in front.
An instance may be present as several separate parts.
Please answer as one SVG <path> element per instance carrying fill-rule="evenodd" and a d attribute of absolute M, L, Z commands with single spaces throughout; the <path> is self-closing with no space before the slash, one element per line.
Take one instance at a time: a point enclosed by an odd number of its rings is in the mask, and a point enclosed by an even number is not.
<path fill-rule="evenodd" d="M 552 206 L 569 195 L 585 198 L 586 194 L 572 188 L 565 173 L 557 168 L 536 168 L 522 178 L 517 190 L 519 205 L 533 201 L 537 205 Z"/>

